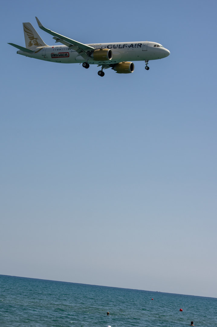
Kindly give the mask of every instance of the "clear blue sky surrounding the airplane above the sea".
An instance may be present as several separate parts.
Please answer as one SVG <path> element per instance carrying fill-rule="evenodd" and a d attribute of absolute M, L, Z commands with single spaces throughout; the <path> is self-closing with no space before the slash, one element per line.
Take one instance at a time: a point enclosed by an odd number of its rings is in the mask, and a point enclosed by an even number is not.
<path fill-rule="evenodd" d="M 216 1 L 1 4 L 0 274 L 217 297 Z M 23 22 L 155 41 L 133 74 L 16 54 Z"/>

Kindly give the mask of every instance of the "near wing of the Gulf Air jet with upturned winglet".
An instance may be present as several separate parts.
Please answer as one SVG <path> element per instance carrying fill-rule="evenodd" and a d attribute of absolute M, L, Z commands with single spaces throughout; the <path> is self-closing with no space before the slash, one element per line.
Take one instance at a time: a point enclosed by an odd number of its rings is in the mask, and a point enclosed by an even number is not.
<path fill-rule="evenodd" d="M 41 28 L 41 29 L 43 29 L 43 31 L 45 31 L 45 32 L 47 32 L 47 33 L 49 33 L 49 34 L 51 34 L 51 35 L 53 35 L 54 36 L 54 40 L 56 40 L 56 42 L 60 42 L 60 43 L 62 43 L 62 44 L 65 44 L 65 45 L 67 45 L 68 47 L 70 47 L 70 48 L 72 48 L 72 49 L 74 49 L 76 52 L 78 52 L 78 53 L 86 53 L 86 52 L 88 52 L 88 51 L 93 51 L 93 50 L 95 50 L 95 48 L 93 48 L 92 46 L 90 46 L 90 45 L 86 45 L 86 44 L 84 44 L 84 43 L 80 43 L 80 42 L 78 42 L 78 41 L 75 41 L 75 40 L 72 40 L 72 39 L 69 39 L 69 38 L 67 38 L 66 36 L 63 36 L 63 35 L 61 35 L 61 34 L 58 34 L 58 33 L 55 33 L 55 32 L 53 32 L 53 31 L 51 31 L 50 29 L 48 29 L 48 28 L 46 28 L 46 27 L 44 27 L 42 24 L 41 24 L 41 22 L 39 21 L 39 19 L 36 17 L 36 20 L 37 20 L 37 23 L 38 23 L 38 25 L 39 25 L 39 27 Z"/>

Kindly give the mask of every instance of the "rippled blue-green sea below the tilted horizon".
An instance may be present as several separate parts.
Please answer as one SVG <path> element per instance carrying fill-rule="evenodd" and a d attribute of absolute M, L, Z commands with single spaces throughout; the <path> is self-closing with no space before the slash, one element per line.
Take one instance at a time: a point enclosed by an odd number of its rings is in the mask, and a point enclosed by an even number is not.
<path fill-rule="evenodd" d="M 0 275 L 0 327 L 184 327 L 191 321 L 217 327 L 217 298 Z"/>

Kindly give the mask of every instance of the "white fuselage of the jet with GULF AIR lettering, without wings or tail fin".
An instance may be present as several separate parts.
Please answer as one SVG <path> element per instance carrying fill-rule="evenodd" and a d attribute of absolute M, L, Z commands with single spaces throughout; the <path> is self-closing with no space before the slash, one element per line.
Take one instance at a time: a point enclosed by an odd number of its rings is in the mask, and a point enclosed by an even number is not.
<path fill-rule="evenodd" d="M 119 42 L 119 43 L 94 43 L 88 44 L 96 49 L 111 49 L 112 59 L 97 61 L 88 56 L 79 55 L 75 50 L 66 45 L 47 45 L 34 48 L 34 53 L 17 51 L 18 54 L 51 62 L 89 64 L 116 64 L 122 61 L 156 60 L 169 56 L 169 50 L 160 43 L 155 42 Z"/>

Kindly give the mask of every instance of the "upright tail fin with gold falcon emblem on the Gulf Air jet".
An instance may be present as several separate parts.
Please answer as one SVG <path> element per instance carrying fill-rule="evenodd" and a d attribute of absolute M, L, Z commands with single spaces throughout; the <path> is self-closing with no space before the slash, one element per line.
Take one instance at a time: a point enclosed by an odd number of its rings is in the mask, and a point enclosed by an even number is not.
<path fill-rule="evenodd" d="M 26 48 L 46 46 L 47 44 L 41 39 L 35 28 L 30 23 L 23 23 L 23 32 L 25 37 Z"/>

